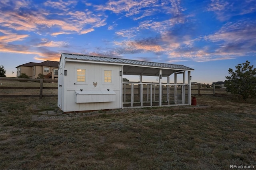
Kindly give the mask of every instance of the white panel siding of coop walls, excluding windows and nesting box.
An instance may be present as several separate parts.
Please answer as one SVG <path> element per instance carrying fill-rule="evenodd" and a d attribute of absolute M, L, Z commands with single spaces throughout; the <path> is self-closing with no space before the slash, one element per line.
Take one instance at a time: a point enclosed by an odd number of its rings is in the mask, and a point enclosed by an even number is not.
<path fill-rule="evenodd" d="M 70 62 L 63 61 L 63 57 L 60 61 L 60 65 L 63 63 L 63 74 L 59 73 L 58 76 L 62 76 L 62 111 L 88 111 L 88 110 L 100 110 L 100 109 L 119 109 L 122 108 L 122 76 L 119 72 L 122 71 L 122 66 L 111 64 L 97 64 L 97 63 L 84 63 L 84 62 Z M 76 69 L 86 69 L 86 83 L 76 82 Z M 67 70 L 67 75 L 64 75 L 64 70 Z M 103 70 L 112 71 L 112 83 L 104 83 Z M 103 77 L 103 78 L 102 78 Z M 59 79 L 61 79 L 59 77 Z M 96 85 L 97 84 L 97 85 Z M 59 88 L 61 89 L 61 88 Z M 58 89 L 58 90 L 59 90 Z M 114 91 L 116 93 L 115 99 L 111 102 L 93 102 L 93 103 L 76 103 L 75 91 Z M 58 105 L 60 101 L 58 100 Z"/>

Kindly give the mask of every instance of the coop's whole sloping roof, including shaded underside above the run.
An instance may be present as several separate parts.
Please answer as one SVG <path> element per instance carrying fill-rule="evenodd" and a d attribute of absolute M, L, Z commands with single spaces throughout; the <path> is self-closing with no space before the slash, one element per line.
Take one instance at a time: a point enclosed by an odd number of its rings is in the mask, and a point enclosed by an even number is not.
<path fill-rule="evenodd" d="M 72 61 L 88 61 L 93 63 L 110 63 L 123 65 L 123 74 L 126 75 L 149 75 L 158 76 L 159 69 L 162 69 L 163 76 L 169 76 L 175 71 L 193 71 L 194 69 L 178 64 L 168 63 L 156 63 L 150 61 L 139 61 L 132 59 L 112 58 L 112 57 L 100 57 L 92 55 L 80 55 L 61 53 L 61 57 L 66 60 L 71 59 Z"/>

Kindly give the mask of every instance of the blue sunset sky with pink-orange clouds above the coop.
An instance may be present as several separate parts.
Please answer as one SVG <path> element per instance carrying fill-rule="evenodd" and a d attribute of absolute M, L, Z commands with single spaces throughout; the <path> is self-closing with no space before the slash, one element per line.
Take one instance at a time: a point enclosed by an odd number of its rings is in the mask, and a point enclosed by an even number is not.
<path fill-rule="evenodd" d="M 181 64 L 194 69 L 191 81 L 225 81 L 246 60 L 256 67 L 256 1 L 0 1 L 7 77 L 60 53 Z"/>

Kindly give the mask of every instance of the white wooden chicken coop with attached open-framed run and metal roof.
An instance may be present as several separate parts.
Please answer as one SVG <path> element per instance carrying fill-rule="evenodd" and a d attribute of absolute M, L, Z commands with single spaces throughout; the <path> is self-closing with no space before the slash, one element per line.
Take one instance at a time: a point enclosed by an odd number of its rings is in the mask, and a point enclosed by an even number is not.
<path fill-rule="evenodd" d="M 142 82 L 143 75 L 158 76 L 159 83 L 157 85 L 159 85 L 159 91 L 161 91 L 163 85 L 162 77 L 167 77 L 168 82 L 166 85 L 168 87 L 177 87 L 178 84 L 175 79 L 177 74 L 180 73 L 184 77 L 181 85 L 181 104 L 190 105 L 190 71 L 193 70 L 184 65 L 61 53 L 58 66 L 58 107 L 64 112 L 122 109 L 123 84 L 127 84 L 122 82 L 122 75 L 140 75 L 140 82 L 136 84 L 141 85 L 140 94 L 142 95 L 140 96 L 140 101 L 143 103 L 143 85 L 150 85 L 150 83 Z M 185 83 L 186 71 L 188 72 L 188 83 Z M 173 73 L 175 74 L 174 84 L 170 84 L 169 76 Z M 134 83 L 129 84 L 133 88 Z M 150 86 L 152 106 L 152 84 Z M 177 105 L 177 90 L 176 93 L 174 91 L 174 96 L 176 97 L 175 105 Z M 186 96 L 187 100 L 185 100 Z M 159 93 L 159 106 L 161 105 L 162 93 Z M 131 98 L 132 106 L 133 99 Z M 143 107 L 143 104 L 141 106 Z"/>

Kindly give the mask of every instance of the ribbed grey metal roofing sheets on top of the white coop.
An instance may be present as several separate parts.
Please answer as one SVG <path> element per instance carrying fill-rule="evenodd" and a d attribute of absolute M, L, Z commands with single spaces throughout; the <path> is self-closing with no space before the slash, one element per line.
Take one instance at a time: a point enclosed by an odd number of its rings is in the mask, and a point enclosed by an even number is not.
<path fill-rule="evenodd" d="M 184 65 L 156 63 L 156 62 L 139 61 L 139 60 L 132 60 L 132 59 L 110 58 L 110 57 L 100 57 L 100 56 L 90 56 L 90 55 L 80 55 L 80 54 L 69 54 L 69 53 L 61 53 L 61 56 L 68 59 L 120 63 L 123 65 L 135 65 L 135 66 L 141 66 L 141 67 L 145 66 L 145 67 L 159 67 L 159 68 L 177 69 L 177 70 L 191 70 L 191 71 L 194 70 Z"/>

